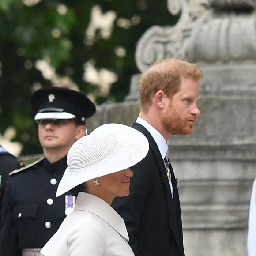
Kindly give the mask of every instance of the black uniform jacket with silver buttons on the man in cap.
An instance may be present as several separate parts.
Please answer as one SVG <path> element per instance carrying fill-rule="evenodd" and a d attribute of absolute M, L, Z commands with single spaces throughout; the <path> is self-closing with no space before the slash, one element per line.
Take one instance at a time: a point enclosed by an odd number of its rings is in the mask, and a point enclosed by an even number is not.
<path fill-rule="evenodd" d="M 65 195 L 55 197 L 67 158 L 46 158 L 19 169 L 7 181 L 2 208 L 0 255 L 21 256 L 23 248 L 42 248 L 65 215 Z"/>

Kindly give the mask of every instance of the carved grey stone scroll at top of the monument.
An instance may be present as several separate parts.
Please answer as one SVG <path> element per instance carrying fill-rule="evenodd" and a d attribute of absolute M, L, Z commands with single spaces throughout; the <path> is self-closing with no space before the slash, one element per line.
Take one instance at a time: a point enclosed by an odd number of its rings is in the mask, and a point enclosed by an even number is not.
<path fill-rule="evenodd" d="M 156 61 L 178 57 L 193 62 L 256 62 L 256 0 L 168 0 L 175 26 L 152 26 L 140 38 L 140 71 Z"/>

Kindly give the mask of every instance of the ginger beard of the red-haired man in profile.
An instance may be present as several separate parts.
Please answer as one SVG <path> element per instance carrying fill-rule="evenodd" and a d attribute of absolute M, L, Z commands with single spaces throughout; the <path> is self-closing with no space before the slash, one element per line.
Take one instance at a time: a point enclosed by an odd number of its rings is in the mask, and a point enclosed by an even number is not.
<path fill-rule="evenodd" d="M 193 124 L 188 120 L 196 120 L 196 118 L 182 118 L 170 104 L 170 109 L 163 115 L 162 126 L 171 135 L 188 135 L 193 132 Z"/>

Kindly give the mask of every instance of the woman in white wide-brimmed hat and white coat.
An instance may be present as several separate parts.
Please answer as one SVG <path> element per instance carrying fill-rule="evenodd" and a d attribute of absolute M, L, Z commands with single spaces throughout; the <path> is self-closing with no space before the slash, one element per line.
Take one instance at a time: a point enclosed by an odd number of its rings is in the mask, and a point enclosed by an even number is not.
<path fill-rule="evenodd" d="M 74 211 L 42 248 L 45 256 L 133 256 L 124 220 L 110 206 L 128 196 L 129 167 L 149 149 L 147 138 L 123 124 L 104 124 L 77 140 L 56 196 L 77 196 Z"/>

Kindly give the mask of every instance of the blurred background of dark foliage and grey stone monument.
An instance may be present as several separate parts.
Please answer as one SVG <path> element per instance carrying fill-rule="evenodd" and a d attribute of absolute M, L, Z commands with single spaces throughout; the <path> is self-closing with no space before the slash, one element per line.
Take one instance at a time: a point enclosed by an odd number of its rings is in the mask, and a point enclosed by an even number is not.
<path fill-rule="evenodd" d="M 90 132 L 132 125 L 139 73 L 152 61 L 195 62 L 204 74 L 200 117 L 192 135 L 168 142 L 185 252 L 245 256 L 256 169 L 255 38 L 256 0 L 0 0 L 0 143 L 23 160 L 42 153 L 30 107 L 42 86 L 87 94 L 97 105 Z"/>

